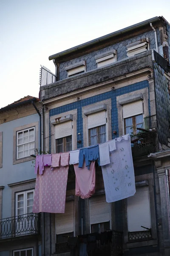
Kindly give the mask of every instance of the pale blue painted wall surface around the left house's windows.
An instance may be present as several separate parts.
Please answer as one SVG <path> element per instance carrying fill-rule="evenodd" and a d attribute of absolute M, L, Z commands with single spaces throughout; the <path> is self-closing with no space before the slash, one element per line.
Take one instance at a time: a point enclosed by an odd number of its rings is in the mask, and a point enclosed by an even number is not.
<path fill-rule="evenodd" d="M 36 178 L 34 174 L 33 157 L 27 157 L 27 161 L 16 163 L 14 150 L 16 147 L 16 131 L 22 127 L 31 127 L 32 124 L 39 126 L 38 114 L 14 119 L 0 125 L 0 132 L 3 131 L 3 167 L 0 169 L 0 186 L 4 186 L 2 198 L 2 218 L 11 217 L 11 188 L 8 184 L 21 182 Z M 35 134 L 35 147 L 38 148 L 37 134 Z M 14 164 L 15 163 L 15 164 Z M 14 211 L 13 211 L 14 212 Z"/>

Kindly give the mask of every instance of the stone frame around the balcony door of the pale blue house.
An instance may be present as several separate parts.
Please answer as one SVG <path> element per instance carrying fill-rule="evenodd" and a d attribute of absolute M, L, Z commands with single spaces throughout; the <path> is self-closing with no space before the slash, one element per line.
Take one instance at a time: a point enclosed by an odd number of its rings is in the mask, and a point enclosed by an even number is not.
<path fill-rule="evenodd" d="M 35 189 L 36 179 L 24 180 L 16 183 L 8 184 L 11 188 L 11 216 L 15 216 L 15 195 L 18 192 Z"/>

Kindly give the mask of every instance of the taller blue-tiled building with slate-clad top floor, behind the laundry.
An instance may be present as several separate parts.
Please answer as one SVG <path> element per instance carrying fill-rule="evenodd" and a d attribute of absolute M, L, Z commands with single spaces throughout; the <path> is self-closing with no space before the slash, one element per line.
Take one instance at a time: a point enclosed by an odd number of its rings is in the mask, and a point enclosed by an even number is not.
<path fill-rule="evenodd" d="M 129 133 L 136 194 L 106 203 L 96 164 L 95 194 L 78 198 L 70 166 L 65 214 L 44 215 L 44 255 L 70 255 L 68 236 L 108 230 L 112 243 L 90 255 L 170 254 L 169 59 L 170 24 L 163 17 L 49 57 L 56 81 L 40 87 L 43 150 L 71 151 Z"/>

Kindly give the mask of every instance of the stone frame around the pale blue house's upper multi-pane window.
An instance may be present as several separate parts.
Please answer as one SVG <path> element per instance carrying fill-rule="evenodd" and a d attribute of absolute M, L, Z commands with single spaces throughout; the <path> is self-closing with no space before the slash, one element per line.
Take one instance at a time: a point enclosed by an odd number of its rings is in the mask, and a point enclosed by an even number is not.
<path fill-rule="evenodd" d="M 13 164 L 24 163 L 24 162 L 35 159 L 34 157 L 31 157 L 31 156 L 17 159 L 17 132 L 28 129 L 28 128 L 32 128 L 32 127 L 35 127 L 35 149 L 36 149 L 39 146 L 39 141 L 38 141 L 39 122 L 34 122 L 34 123 L 30 123 L 27 125 L 22 125 L 14 128 L 13 130 Z"/>

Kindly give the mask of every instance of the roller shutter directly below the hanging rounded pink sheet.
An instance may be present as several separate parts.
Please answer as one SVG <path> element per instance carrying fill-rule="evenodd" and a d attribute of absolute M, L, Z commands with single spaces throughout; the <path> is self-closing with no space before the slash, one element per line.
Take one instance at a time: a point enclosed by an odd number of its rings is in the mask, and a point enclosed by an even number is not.
<path fill-rule="evenodd" d="M 110 221 L 110 204 L 105 195 L 90 198 L 90 224 Z"/>

